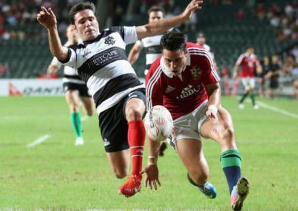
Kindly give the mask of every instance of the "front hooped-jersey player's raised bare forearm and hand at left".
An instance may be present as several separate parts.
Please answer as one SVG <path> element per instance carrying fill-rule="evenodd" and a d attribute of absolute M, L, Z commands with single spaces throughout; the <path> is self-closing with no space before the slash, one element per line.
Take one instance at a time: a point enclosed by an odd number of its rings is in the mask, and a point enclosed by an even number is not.
<path fill-rule="evenodd" d="M 41 6 L 40 12 L 37 14 L 37 21 L 48 31 L 51 53 L 60 61 L 65 61 L 68 58 L 68 48 L 61 44 L 57 30 L 57 19 L 53 10 Z"/>

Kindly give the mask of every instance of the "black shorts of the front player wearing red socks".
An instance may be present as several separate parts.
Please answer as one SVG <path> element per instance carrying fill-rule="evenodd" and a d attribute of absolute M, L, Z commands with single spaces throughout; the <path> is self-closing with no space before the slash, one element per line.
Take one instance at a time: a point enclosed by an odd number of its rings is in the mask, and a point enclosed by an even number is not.
<path fill-rule="evenodd" d="M 125 107 L 128 100 L 131 98 L 139 98 L 146 105 L 145 88 L 130 92 L 116 105 L 101 112 L 98 116 L 99 128 L 106 152 L 122 151 L 129 148 L 127 140 L 128 124 L 125 115 Z"/>

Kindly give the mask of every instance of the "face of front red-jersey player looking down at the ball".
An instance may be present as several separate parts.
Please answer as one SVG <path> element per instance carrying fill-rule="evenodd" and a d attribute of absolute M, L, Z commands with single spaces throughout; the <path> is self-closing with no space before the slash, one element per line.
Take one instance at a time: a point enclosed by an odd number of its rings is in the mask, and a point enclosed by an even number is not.
<path fill-rule="evenodd" d="M 182 50 L 162 50 L 162 56 L 166 66 L 174 76 L 179 76 L 186 65 L 186 51 Z"/>

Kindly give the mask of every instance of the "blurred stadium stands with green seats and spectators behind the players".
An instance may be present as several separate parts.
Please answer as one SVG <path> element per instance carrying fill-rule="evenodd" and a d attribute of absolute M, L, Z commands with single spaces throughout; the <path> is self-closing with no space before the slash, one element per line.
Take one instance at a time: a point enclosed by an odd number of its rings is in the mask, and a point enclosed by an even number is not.
<path fill-rule="evenodd" d="M 0 78 L 44 78 L 51 53 L 46 29 L 36 20 L 41 5 L 53 7 L 58 18 L 62 42 L 69 24 L 68 11 L 80 0 L 1 0 L 0 2 Z M 182 0 L 94 0 L 100 29 L 112 25 L 140 25 L 148 21 L 151 5 L 165 8 L 166 17 L 179 14 L 186 5 Z M 229 73 L 247 46 L 254 46 L 262 61 L 278 54 L 280 94 L 293 96 L 298 74 L 298 3 L 296 0 L 205 0 L 203 9 L 179 26 L 195 42 L 202 31 L 215 55 L 220 74 Z M 132 45 L 127 46 L 127 53 Z M 144 78 L 145 55 L 133 65 Z M 224 70 L 224 71 L 223 71 Z M 61 77 L 63 71 L 59 72 Z M 230 81 L 230 86 L 232 82 Z M 258 89 L 258 86 L 257 86 Z M 239 91 L 242 91 L 240 86 Z"/>

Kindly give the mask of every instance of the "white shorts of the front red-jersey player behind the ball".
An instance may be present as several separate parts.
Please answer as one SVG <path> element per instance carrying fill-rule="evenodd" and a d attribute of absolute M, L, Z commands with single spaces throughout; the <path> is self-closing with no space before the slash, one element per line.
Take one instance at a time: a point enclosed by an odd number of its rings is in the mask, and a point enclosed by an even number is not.
<path fill-rule="evenodd" d="M 174 120 L 174 133 L 167 139 L 169 144 L 175 148 L 176 141 L 179 139 L 191 138 L 200 141 L 200 127 L 207 119 L 207 110 L 208 104 L 206 100 L 191 113 Z"/>

